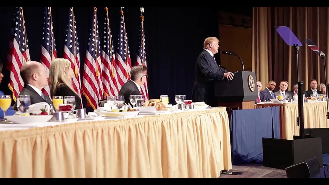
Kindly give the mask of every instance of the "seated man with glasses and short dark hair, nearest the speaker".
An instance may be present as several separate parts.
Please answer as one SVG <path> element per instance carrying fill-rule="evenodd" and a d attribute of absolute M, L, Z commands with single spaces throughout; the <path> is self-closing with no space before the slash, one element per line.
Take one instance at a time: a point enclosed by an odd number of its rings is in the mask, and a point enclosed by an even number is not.
<path fill-rule="evenodd" d="M 119 92 L 119 96 L 124 96 L 124 101 L 128 105 L 130 104 L 130 95 L 141 95 L 140 87 L 146 82 L 147 69 L 143 65 L 137 65 L 131 68 L 131 79 L 121 87 Z"/>

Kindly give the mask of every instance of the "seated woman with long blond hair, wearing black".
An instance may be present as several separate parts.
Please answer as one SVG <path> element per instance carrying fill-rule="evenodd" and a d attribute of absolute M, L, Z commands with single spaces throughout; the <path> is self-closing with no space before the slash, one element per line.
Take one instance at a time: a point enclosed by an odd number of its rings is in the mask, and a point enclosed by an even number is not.
<path fill-rule="evenodd" d="M 67 59 L 55 59 L 49 69 L 49 88 L 52 96 L 74 96 L 75 109 L 81 109 L 81 98 L 72 85 L 74 72 L 71 62 Z"/>

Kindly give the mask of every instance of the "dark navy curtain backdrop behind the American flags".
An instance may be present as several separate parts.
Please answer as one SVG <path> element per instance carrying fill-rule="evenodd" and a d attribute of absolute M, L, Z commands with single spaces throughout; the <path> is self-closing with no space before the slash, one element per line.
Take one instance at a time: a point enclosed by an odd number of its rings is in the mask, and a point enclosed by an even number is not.
<path fill-rule="evenodd" d="M 70 7 L 52 7 L 54 34 L 58 57 L 63 57 L 63 43 Z M 76 16 L 79 38 L 81 73 L 91 28 L 93 7 L 73 7 Z M 108 7 L 109 8 L 109 7 Z M 134 65 L 140 26 L 140 7 L 123 9 L 126 31 L 130 47 L 130 57 Z M 207 37 L 219 37 L 218 14 L 216 8 L 207 7 L 144 7 L 144 28 L 146 40 L 147 65 L 149 68 L 148 88 L 150 98 L 169 95 L 169 102 L 175 104 L 174 96 L 186 94 L 191 98 L 194 82 L 194 64 L 203 49 Z M 105 10 L 97 7 L 99 35 L 103 36 Z M 117 47 L 120 7 L 109 8 L 114 47 Z M 39 61 L 44 7 L 23 7 L 24 19 L 31 60 Z M 14 16 L 14 7 L 0 8 L 0 51 L 1 60 L 7 61 L 9 36 Z M 219 55 L 216 55 L 219 61 Z M 9 73 L 3 69 L 5 78 L 0 89 L 11 94 L 8 89 Z M 83 97 L 84 105 L 86 99 Z"/>

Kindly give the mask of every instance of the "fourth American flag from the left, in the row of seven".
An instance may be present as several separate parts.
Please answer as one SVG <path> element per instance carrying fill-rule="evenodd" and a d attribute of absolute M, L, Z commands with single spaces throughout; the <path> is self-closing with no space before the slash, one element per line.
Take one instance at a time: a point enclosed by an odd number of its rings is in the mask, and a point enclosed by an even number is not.
<path fill-rule="evenodd" d="M 98 35 L 96 11 L 97 9 L 94 7 L 82 79 L 82 92 L 94 110 L 98 108 L 98 101 L 104 97 L 102 84 L 102 63 L 100 57 L 101 46 Z"/>

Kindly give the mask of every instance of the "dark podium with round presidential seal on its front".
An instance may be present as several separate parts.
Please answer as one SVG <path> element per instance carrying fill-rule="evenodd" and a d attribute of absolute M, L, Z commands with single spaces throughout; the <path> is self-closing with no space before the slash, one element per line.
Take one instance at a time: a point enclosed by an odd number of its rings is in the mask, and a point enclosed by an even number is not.
<path fill-rule="evenodd" d="M 237 71 L 233 80 L 224 78 L 214 84 L 215 99 L 220 107 L 226 107 L 231 114 L 232 110 L 254 109 L 258 96 L 256 74 L 251 71 Z"/>

